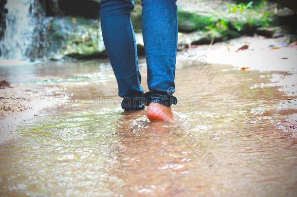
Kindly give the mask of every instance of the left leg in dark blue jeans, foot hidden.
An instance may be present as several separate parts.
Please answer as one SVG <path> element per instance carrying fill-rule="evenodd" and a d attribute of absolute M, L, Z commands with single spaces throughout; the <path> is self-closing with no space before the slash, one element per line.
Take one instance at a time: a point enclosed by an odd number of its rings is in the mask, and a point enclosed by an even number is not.
<path fill-rule="evenodd" d="M 137 48 L 130 20 L 133 0 L 101 0 L 103 41 L 125 110 L 144 109 Z"/>

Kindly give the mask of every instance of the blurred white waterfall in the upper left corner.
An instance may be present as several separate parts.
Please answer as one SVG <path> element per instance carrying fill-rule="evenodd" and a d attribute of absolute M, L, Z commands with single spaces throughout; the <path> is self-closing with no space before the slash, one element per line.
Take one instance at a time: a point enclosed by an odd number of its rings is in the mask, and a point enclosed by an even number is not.
<path fill-rule="evenodd" d="M 26 60 L 36 27 L 34 0 L 8 0 L 6 30 L 0 41 L 0 59 Z"/>

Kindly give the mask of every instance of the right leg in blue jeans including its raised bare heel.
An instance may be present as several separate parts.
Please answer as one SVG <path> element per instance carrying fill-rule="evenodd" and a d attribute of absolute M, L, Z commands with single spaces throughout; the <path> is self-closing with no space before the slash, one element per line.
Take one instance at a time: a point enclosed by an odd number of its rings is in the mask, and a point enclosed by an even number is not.
<path fill-rule="evenodd" d="M 170 107 L 177 103 L 175 63 L 177 53 L 176 0 L 142 0 L 142 31 L 148 65 L 148 89 L 145 93 L 150 120 L 173 119 Z"/>

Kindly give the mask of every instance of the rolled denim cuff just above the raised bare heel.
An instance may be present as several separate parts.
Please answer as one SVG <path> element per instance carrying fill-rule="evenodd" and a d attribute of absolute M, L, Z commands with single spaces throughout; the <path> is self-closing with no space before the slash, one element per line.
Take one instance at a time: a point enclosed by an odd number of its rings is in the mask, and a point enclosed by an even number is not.
<path fill-rule="evenodd" d="M 177 98 L 175 96 L 169 95 L 167 93 L 145 93 L 146 97 L 146 106 L 148 106 L 151 102 L 158 103 L 166 107 L 170 107 L 172 104 L 177 104 Z"/>

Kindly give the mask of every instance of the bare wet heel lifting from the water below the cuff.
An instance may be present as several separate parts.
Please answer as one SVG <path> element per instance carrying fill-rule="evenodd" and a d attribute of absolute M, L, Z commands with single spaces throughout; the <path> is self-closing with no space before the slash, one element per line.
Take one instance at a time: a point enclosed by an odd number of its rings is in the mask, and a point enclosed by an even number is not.
<path fill-rule="evenodd" d="M 147 111 L 148 119 L 152 121 L 172 122 L 174 121 L 173 112 L 170 107 L 158 103 L 150 103 Z"/>

